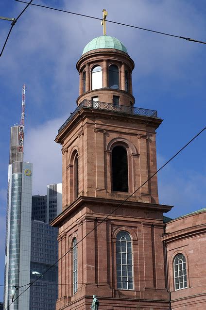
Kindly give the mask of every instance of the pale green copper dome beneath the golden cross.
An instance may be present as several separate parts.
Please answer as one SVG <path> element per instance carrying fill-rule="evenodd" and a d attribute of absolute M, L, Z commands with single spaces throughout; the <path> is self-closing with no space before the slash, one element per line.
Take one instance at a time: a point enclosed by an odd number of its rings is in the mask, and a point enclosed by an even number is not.
<path fill-rule="evenodd" d="M 91 40 L 86 44 L 82 55 L 93 49 L 119 49 L 128 54 L 125 46 L 118 39 L 110 35 L 102 35 Z"/>

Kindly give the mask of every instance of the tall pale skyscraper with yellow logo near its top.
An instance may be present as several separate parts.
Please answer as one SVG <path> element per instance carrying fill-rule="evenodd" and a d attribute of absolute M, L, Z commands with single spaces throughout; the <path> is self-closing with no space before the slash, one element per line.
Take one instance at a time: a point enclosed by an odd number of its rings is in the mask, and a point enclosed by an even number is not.
<path fill-rule="evenodd" d="M 18 149 L 19 126 L 11 128 L 5 246 L 5 308 L 30 282 L 32 163 Z M 9 307 L 29 309 L 29 289 Z"/>

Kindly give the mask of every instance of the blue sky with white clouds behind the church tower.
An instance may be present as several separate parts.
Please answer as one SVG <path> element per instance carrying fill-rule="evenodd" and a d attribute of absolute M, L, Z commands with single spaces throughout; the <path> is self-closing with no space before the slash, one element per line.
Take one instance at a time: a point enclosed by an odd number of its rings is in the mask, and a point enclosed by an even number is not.
<path fill-rule="evenodd" d="M 206 41 L 206 6 L 201 0 L 34 0 L 81 14 Z M 103 7 L 104 5 L 104 7 Z M 0 15 L 17 17 L 25 4 L 0 1 Z M 0 47 L 10 22 L 0 20 Z M 107 23 L 107 34 L 126 46 L 135 62 L 136 106 L 158 111 L 160 166 L 206 126 L 206 45 Z M 30 6 L 14 26 L 0 58 L 0 284 L 3 284 L 5 213 L 10 126 L 20 121 L 26 84 L 25 161 L 34 164 L 33 194 L 61 182 L 61 151 L 53 140 L 76 108 L 76 62 L 86 44 L 102 35 L 98 20 Z M 206 207 L 206 132 L 158 175 L 160 203 L 177 217 Z M 1 290 L 0 301 L 3 299 Z"/>

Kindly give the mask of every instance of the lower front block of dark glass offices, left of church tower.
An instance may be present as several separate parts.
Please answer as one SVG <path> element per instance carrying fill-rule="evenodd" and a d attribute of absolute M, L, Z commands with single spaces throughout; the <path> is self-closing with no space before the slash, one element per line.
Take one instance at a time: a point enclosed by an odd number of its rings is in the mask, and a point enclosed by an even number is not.
<path fill-rule="evenodd" d="M 38 220 L 32 221 L 30 281 L 30 310 L 55 310 L 58 297 L 58 228 Z"/>

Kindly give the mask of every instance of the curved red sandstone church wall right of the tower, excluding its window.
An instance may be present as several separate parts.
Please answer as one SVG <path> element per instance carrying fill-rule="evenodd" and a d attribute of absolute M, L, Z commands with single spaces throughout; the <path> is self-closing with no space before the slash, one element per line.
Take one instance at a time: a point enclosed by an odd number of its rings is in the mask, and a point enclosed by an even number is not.
<path fill-rule="evenodd" d="M 167 244 L 172 309 L 206 309 L 206 212 L 169 222 L 163 240 Z M 172 266 L 178 253 L 186 257 L 188 288 L 175 291 Z"/>

